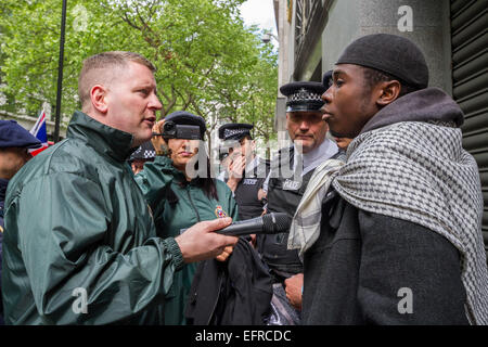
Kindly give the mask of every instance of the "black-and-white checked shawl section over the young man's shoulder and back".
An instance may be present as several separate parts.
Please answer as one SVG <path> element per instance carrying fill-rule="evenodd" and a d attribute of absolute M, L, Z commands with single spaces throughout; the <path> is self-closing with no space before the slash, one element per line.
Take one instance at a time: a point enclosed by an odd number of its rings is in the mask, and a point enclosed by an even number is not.
<path fill-rule="evenodd" d="M 449 240 L 461 254 L 466 316 L 471 323 L 488 324 L 483 195 L 459 128 L 400 121 L 361 133 L 332 185 L 359 209 L 421 224 Z"/>

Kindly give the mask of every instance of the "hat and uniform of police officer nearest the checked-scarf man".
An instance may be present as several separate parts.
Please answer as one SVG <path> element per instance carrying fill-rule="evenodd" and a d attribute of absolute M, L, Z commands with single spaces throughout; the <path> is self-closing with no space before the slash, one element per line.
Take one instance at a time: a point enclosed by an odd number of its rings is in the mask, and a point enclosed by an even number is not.
<path fill-rule="evenodd" d="M 325 79 L 329 82 L 329 78 Z M 292 82 L 280 88 L 286 95 L 286 112 L 317 112 L 322 107 L 321 95 L 329 88 L 320 82 Z M 338 155 L 337 145 L 325 139 L 310 153 L 296 155 L 294 146 L 279 151 L 271 164 L 271 175 L 267 181 L 267 210 L 269 213 L 286 213 L 290 218 L 296 208 L 313 175 L 314 168 L 329 158 Z M 292 177 L 283 175 L 283 166 Z M 285 170 L 286 171 L 286 170 Z M 258 250 L 268 264 L 275 282 L 303 272 L 303 264 L 296 249 L 287 249 L 288 233 L 258 235 Z"/>

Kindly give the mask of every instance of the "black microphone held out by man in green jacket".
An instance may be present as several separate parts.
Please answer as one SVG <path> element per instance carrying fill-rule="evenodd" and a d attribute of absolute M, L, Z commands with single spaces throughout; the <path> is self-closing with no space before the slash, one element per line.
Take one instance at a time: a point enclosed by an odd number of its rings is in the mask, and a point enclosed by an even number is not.
<path fill-rule="evenodd" d="M 236 221 L 216 233 L 240 236 L 248 234 L 278 234 L 288 232 L 292 221 L 287 214 L 271 213 L 262 217 L 256 217 L 247 220 Z"/>

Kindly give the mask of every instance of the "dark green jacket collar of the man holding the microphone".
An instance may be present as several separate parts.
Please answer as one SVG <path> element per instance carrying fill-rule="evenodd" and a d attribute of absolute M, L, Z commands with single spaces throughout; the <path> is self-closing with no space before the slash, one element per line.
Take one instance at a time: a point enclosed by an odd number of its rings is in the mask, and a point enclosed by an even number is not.
<path fill-rule="evenodd" d="M 125 162 L 137 150 L 137 147 L 131 147 L 132 134 L 101 124 L 79 111 L 75 111 L 66 136 L 81 139 L 97 152 L 117 162 Z"/>

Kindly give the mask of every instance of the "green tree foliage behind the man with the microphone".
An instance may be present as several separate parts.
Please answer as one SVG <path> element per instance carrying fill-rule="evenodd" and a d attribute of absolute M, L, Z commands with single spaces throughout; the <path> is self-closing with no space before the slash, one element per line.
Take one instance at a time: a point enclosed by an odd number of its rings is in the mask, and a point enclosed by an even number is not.
<path fill-rule="evenodd" d="M 162 116 L 188 110 L 213 130 L 219 123 L 256 125 L 273 138 L 277 54 L 246 28 L 244 0 L 68 0 L 62 113 L 79 107 L 77 78 L 84 59 L 103 51 L 143 54 L 157 68 Z M 2 0 L 0 67 L 4 92 L 18 108 L 55 104 L 60 0 Z"/>

